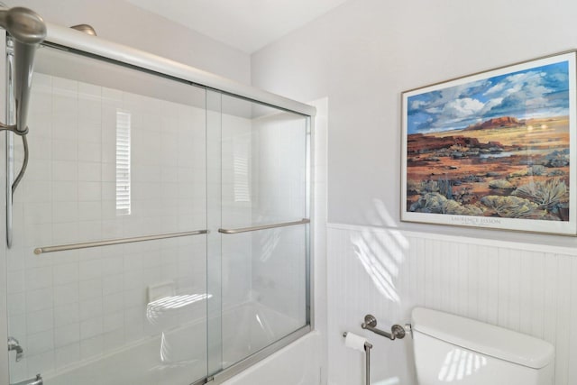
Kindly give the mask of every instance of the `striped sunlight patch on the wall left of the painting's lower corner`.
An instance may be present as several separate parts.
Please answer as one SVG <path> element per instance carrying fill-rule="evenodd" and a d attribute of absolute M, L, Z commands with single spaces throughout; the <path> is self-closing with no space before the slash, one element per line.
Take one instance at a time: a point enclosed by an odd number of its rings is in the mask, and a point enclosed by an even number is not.
<path fill-rule="evenodd" d="M 394 224 L 384 204 L 379 199 L 374 199 L 373 202 L 380 223 L 387 226 Z M 398 271 L 408 252 L 407 238 L 398 230 L 375 233 L 365 228 L 361 234 L 353 236 L 351 242 L 357 258 L 371 277 L 375 288 L 385 298 L 398 304 L 400 302 L 397 288 Z"/>

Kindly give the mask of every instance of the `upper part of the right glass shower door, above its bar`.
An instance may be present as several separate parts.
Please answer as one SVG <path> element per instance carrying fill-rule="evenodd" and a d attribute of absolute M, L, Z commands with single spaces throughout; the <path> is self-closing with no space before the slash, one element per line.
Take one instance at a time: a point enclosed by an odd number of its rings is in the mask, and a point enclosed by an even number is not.
<path fill-rule="evenodd" d="M 222 97 L 223 226 L 307 216 L 307 118 Z"/>

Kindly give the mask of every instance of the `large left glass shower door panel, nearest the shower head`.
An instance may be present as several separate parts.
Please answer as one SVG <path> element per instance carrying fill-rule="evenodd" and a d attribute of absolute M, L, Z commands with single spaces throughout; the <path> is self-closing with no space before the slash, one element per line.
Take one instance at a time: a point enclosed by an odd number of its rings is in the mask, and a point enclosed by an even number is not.
<path fill-rule="evenodd" d="M 171 236 L 206 229 L 206 90 L 50 47 L 37 55 L 8 251 L 9 335 L 23 348 L 11 382 L 206 377 L 206 234 Z"/>

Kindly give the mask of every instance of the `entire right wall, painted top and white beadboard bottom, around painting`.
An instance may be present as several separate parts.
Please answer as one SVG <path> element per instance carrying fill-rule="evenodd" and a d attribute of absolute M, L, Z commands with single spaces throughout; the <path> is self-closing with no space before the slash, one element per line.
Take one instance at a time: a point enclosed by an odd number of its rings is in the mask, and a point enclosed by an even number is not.
<path fill-rule="evenodd" d="M 350 0 L 252 55 L 254 86 L 328 99 L 328 219 L 346 224 L 327 237 L 328 383 L 363 383 L 343 331 L 362 334 L 370 312 L 408 322 L 417 305 L 545 338 L 555 383 L 577 381 L 576 238 L 399 221 L 401 92 L 573 49 L 576 17 L 570 0 Z M 373 383 L 416 384 L 408 340 L 367 336 Z"/>

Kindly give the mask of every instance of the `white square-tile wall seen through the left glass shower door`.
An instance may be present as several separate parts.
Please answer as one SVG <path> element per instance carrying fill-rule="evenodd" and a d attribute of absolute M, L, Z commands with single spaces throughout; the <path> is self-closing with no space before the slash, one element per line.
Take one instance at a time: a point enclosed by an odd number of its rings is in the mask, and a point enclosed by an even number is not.
<path fill-rule="evenodd" d="M 132 115 L 133 206 L 123 216 L 115 212 L 119 110 Z M 159 333 L 160 325 L 146 318 L 150 284 L 173 280 L 179 293 L 206 291 L 202 236 L 32 253 L 39 246 L 206 228 L 205 119 L 204 109 L 193 106 L 34 75 L 31 160 L 14 195 L 7 258 L 9 334 L 25 357 L 10 361 L 12 382 L 50 376 Z"/>

